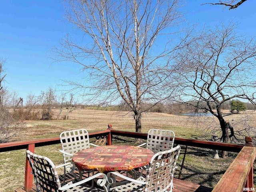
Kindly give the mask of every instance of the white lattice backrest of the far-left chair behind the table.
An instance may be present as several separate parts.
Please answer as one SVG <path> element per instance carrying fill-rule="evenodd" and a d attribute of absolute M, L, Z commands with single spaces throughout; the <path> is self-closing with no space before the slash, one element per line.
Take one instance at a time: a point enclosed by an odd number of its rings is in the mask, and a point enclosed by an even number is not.
<path fill-rule="evenodd" d="M 60 143 L 62 150 L 70 154 L 90 148 L 88 131 L 86 129 L 64 131 L 60 134 Z M 64 163 L 72 162 L 72 156 L 67 154 L 63 156 Z"/>

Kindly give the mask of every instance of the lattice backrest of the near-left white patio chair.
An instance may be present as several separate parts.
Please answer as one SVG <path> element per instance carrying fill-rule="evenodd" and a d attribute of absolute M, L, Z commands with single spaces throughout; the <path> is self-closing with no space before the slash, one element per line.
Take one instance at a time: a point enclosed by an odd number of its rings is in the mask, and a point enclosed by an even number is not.
<path fill-rule="evenodd" d="M 53 162 L 44 156 L 36 155 L 29 150 L 26 156 L 32 167 L 38 192 L 58 192 L 60 180 Z"/>

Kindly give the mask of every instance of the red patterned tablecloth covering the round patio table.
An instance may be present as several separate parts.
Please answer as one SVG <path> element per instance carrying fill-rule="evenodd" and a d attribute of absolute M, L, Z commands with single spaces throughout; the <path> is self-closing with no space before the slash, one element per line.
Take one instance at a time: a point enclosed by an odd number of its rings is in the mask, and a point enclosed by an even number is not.
<path fill-rule="evenodd" d="M 72 156 L 80 170 L 97 170 L 107 173 L 116 170 L 129 171 L 149 164 L 154 155 L 151 150 L 126 145 L 101 146 L 82 150 Z"/>

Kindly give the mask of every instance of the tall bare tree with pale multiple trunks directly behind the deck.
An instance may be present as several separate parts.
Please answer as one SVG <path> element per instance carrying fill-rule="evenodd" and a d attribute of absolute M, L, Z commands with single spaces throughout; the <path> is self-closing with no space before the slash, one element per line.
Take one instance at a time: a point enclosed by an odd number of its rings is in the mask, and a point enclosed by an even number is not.
<path fill-rule="evenodd" d="M 64 6 L 66 19 L 82 38 L 78 42 L 67 35 L 61 48 L 54 48 L 55 60 L 81 64 L 88 74 L 86 84 L 66 82 L 92 102 L 121 98 L 141 132 L 141 103 L 173 96 L 165 58 L 179 46 L 173 37 L 181 32 L 180 1 L 65 0 Z"/>

